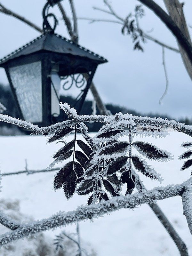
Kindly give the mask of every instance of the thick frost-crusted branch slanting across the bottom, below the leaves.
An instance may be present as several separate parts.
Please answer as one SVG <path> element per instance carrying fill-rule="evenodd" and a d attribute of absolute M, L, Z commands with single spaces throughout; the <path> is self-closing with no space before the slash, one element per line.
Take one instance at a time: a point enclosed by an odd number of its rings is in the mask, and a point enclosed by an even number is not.
<path fill-rule="evenodd" d="M 169 185 L 167 187 L 157 187 L 152 190 L 135 193 L 127 196 L 117 196 L 100 204 L 79 206 L 75 211 L 59 212 L 48 219 L 36 221 L 32 224 L 23 225 L 11 233 L 0 236 L 0 245 L 8 244 L 12 241 L 27 237 L 48 229 L 66 226 L 77 221 L 97 218 L 106 213 L 114 212 L 122 208 L 134 208 L 141 204 L 153 203 L 156 200 L 179 196 L 185 188 L 187 182 L 181 185 Z"/>

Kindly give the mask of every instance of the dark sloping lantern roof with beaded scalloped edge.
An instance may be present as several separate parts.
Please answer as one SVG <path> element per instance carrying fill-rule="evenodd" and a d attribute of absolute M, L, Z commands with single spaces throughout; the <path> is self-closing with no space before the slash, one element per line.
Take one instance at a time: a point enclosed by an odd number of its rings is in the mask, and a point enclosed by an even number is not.
<path fill-rule="evenodd" d="M 92 61 L 96 61 L 98 64 L 108 61 L 104 57 L 68 40 L 65 37 L 55 33 L 44 33 L 41 36 L 35 38 L 33 41 L 30 41 L 28 44 L 23 45 L 19 49 L 0 59 L 0 67 L 3 67 L 4 64 L 9 60 L 13 60 L 15 58 L 19 58 L 22 55 L 25 56 L 39 51 L 71 54 L 74 56 L 88 58 Z"/>

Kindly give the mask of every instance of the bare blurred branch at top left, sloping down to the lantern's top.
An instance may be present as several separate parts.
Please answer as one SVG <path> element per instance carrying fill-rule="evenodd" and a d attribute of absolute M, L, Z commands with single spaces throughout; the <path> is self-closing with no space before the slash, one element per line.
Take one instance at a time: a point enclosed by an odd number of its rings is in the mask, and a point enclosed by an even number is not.
<path fill-rule="evenodd" d="M 12 17 L 15 17 L 18 20 L 23 21 L 24 23 L 26 23 L 28 26 L 36 29 L 37 31 L 39 31 L 40 33 L 43 33 L 43 29 L 41 29 L 40 27 L 38 27 L 35 23 L 31 22 L 30 20 L 26 19 L 25 17 L 22 17 L 20 14 L 11 11 L 10 9 L 6 8 L 3 4 L 0 3 L 0 12 L 6 14 L 6 15 L 10 15 Z"/>

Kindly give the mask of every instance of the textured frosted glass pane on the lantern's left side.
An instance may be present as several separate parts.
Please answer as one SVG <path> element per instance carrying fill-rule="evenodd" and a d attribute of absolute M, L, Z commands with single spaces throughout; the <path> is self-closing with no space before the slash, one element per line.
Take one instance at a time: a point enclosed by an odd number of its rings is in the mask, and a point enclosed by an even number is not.
<path fill-rule="evenodd" d="M 9 74 L 24 119 L 42 122 L 41 61 L 9 68 Z"/>

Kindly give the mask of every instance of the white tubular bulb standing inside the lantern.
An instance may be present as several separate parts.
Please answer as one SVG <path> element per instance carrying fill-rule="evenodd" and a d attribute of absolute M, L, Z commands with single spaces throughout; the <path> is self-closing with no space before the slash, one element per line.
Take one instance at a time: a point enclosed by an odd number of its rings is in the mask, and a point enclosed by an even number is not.
<path fill-rule="evenodd" d="M 60 76 L 56 72 L 52 72 L 51 80 L 51 114 L 57 117 L 60 115 Z"/>

